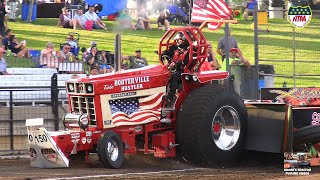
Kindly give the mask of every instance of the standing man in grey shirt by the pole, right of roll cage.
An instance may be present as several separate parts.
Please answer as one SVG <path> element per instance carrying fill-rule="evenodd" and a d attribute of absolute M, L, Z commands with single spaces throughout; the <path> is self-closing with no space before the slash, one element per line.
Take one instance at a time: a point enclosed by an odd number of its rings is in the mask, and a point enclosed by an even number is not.
<path fill-rule="evenodd" d="M 237 48 L 238 47 L 238 42 L 237 40 L 231 36 L 231 28 L 228 29 L 228 34 L 229 34 L 229 49 L 226 49 L 226 45 L 227 45 L 227 40 L 226 37 L 223 36 L 222 38 L 220 38 L 219 43 L 218 43 L 218 47 L 217 47 L 217 53 L 222 57 L 222 61 L 224 61 L 225 56 L 226 56 L 226 52 L 230 51 L 231 48 Z M 240 51 L 240 49 L 239 49 Z"/>

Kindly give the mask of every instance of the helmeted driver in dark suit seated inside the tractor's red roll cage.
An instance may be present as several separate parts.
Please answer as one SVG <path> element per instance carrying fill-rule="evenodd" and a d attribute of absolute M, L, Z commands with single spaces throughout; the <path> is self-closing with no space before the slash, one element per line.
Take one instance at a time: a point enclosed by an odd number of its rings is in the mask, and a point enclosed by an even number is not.
<path fill-rule="evenodd" d="M 174 98 L 176 97 L 176 91 L 181 81 L 181 74 L 183 68 L 189 61 L 189 43 L 182 32 L 177 33 L 174 38 L 176 44 L 171 45 L 169 49 L 162 52 L 162 61 L 168 61 L 169 69 L 171 69 L 171 76 L 169 79 L 169 92 L 164 97 L 167 108 L 173 108 Z M 172 67 L 172 65 L 174 67 Z M 173 70 L 174 69 L 174 70 Z"/>

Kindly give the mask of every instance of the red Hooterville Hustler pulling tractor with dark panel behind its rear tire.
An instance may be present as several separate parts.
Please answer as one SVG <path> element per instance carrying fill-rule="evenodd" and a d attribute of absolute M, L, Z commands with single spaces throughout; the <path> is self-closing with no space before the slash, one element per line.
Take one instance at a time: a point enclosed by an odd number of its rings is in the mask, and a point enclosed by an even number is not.
<path fill-rule="evenodd" d="M 177 33 L 190 44 L 189 61 L 175 108 L 168 110 L 163 96 L 171 72 L 161 53 L 176 43 Z M 201 72 L 207 48 L 198 28 L 171 29 L 160 41 L 160 65 L 67 81 L 71 112 L 63 118 L 65 130 L 47 132 L 27 122 L 31 165 L 67 167 L 69 156 L 80 152 L 87 160 L 96 152 L 104 167 L 120 168 L 125 154 L 138 151 L 158 158 L 180 153 L 191 162 L 206 163 L 234 160 L 244 149 L 287 150 L 292 144 L 289 106 L 245 105 L 236 92 L 221 85 L 228 72 Z"/>

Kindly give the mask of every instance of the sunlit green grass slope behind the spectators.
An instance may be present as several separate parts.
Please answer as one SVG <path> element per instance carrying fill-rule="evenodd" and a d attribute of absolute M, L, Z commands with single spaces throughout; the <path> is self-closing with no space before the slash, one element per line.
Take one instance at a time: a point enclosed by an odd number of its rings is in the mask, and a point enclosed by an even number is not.
<path fill-rule="evenodd" d="M 47 42 L 53 42 L 58 49 L 59 44 L 64 43 L 67 34 L 71 29 L 56 27 L 57 19 L 37 19 L 36 22 L 9 22 L 18 40 L 27 40 L 27 46 L 32 49 L 42 50 Z M 113 22 L 107 21 L 107 26 L 112 27 Z M 238 24 L 231 24 L 232 36 L 239 43 L 244 52 L 244 56 L 254 63 L 254 38 L 253 30 L 250 29 L 252 21 L 239 21 Z M 172 27 L 175 27 L 174 25 Z M 312 22 L 304 29 L 297 29 L 293 41 L 293 26 L 286 20 L 270 20 L 267 25 L 259 26 L 261 29 L 268 28 L 270 33 L 259 33 L 259 59 L 260 60 L 296 60 L 308 61 L 318 60 L 320 55 L 320 20 L 312 19 Z M 154 64 L 158 62 L 158 57 L 154 51 L 158 48 L 158 43 L 164 31 L 158 30 L 155 23 L 152 30 L 145 31 L 125 31 L 122 36 L 122 54 L 134 54 L 136 49 L 142 50 L 142 55 Z M 114 49 L 115 32 L 105 30 L 84 31 L 77 30 L 80 36 L 80 47 L 89 47 L 91 41 L 98 43 L 100 50 Z M 216 49 L 218 40 L 224 35 L 223 28 L 217 31 L 204 29 L 207 40 Z M 295 44 L 294 44 L 295 42 Z M 294 48 L 295 49 L 295 56 Z M 220 60 L 220 57 L 217 56 Z M 320 62 L 320 61 L 319 61 Z M 288 62 L 264 62 L 263 64 L 273 64 L 277 74 L 293 75 L 293 63 Z M 320 63 L 296 64 L 296 74 L 315 74 L 318 72 Z M 14 65 L 14 64 L 12 64 Z M 14 65 L 16 66 L 16 65 Z M 23 65 L 25 66 L 25 65 Z M 320 74 L 320 73 L 319 73 Z M 292 81 L 288 80 L 290 84 Z M 279 84 L 279 82 L 277 82 Z M 297 83 L 299 84 L 299 83 Z M 300 83 L 301 84 L 301 83 Z M 303 83 L 304 84 L 304 83 Z M 303 85 L 301 84 L 301 85 Z M 307 83 L 307 85 L 311 85 Z"/>

